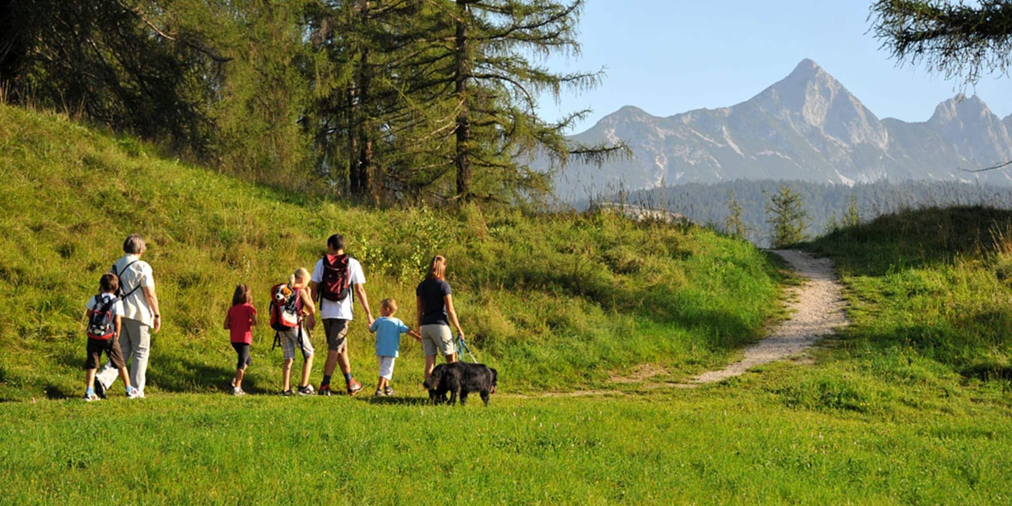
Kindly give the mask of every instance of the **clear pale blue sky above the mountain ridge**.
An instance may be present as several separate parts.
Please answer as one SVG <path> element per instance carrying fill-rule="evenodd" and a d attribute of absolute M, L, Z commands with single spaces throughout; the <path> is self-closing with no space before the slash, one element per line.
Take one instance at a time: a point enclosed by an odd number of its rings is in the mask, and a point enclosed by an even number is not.
<path fill-rule="evenodd" d="M 580 22 L 582 54 L 553 58 L 556 71 L 606 67 L 603 83 L 567 92 L 541 112 L 592 108 L 583 132 L 623 105 L 660 116 L 747 100 L 805 58 L 836 77 L 879 118 L 923 121 L 962 84 L 923 66 L 898 67 L 868 33 L 870 0 L 587 0 Z M 985 76 L 967 86 L 996 114 L 1012 113 L 1012 78 Z"/>

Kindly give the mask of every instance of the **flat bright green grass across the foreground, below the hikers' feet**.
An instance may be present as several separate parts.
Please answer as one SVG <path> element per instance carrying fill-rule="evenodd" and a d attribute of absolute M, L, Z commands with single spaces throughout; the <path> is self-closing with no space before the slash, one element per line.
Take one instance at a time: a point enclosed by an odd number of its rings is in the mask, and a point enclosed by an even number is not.
<path fill-rule="evenodd" d="M 950 400 L 869 416 L 778 401 L 718 388 L 497 395 L 487 409 L 189 394 L 17 403 L 0 410 L 0 469 L 15 503 L 1012 500 L 1007 411 Z"/>

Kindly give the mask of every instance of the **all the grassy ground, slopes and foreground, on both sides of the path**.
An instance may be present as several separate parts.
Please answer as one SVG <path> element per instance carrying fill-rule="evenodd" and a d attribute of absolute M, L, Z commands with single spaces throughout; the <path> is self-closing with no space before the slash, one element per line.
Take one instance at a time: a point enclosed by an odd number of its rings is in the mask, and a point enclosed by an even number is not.
<path fill-rule="evenodd" d="M 607 214 L 309 198 L 4 106 L 0 187 L 3 502 L 1012 503 L 1012 214 L 911 210 L 817 239 L 852 325 L 810 359 L 675 389 L 783 318 L 780 264 Z M 82 306 L 132 232 L 166 316 L 149 397 L 84 403 Z M 410 340 L 396 398 L 281 398 L 265 329 L 244 382 L 260 395 L 226 394 L 233 285 L 262 311 L 333 232 L 373 308 L 395 297 L 405 321 L 421 266 L 446 254 L 465 329 L 500 370 L 488 408 L 426 405 Z M 371 386 L 361 322 L 351 349 Z M 567 395 L 589 389 L 607 392 Z"/>

